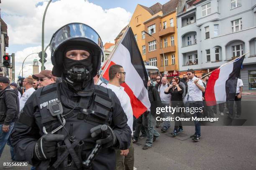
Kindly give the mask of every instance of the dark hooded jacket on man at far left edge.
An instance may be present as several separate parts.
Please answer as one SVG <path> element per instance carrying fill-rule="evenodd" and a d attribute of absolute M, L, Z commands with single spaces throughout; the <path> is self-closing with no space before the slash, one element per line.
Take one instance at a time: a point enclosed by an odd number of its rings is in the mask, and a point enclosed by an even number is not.
<path fill-rule="evenodd" d="M 19 113 L 18 90 L 6 87 L 0 93 L 0 124 L 10 125 Z"/>

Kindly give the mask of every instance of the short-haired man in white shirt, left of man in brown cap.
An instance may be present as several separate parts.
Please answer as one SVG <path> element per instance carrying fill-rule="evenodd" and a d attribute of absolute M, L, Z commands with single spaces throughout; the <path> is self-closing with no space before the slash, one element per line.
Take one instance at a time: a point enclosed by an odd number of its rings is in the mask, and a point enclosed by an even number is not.
<path fill-rule="evenodd" d="M 26 101 L 28 98 L 32 95 L 32 93 L 35 91 L 35 89 L 32 87 L 33 86 L 33 78 L 31 77 L 26 77 L 23 80 L 23 87 L 26 88 L 26 91 L 23 93 L 23 95 L 20 98 L 20 111 L 23 109 Z"/>

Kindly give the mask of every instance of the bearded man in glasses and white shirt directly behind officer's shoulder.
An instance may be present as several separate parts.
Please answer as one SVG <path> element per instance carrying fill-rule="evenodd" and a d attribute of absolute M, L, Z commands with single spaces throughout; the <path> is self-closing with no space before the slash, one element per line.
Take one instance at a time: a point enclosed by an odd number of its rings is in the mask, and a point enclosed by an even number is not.
<path fill-rule="evenodd" d="M 131 100 L 121 83 L 125 82 L 125 71 L 121 65 L 112 65 L 108 71 L 109 83 L 107 88 L 110 88 L 118 97 L 123 111 L 127 116 L 127 124 L 133 133 L 133 110 Z M 116 170 L 133 170 L 134 165 L 134 148 L 131 142 L 127 150 L 116 150 Z"/>

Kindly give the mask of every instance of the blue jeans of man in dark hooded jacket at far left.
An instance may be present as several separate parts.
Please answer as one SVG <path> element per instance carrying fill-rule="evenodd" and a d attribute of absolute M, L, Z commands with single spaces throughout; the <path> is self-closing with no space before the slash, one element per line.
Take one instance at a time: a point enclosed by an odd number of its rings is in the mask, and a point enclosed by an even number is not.
<path fill-rule="evenodd" d="M 0 124 L 0 157 L 5 148 L 5 144 L 7 143 L 7 145 L 10 146 L 10 153 L 11 153 L 12 160 L 15 160 L 13 147 L 10 142 L 10 133 L 12 132 L 13 127 L 14 127 L 14 122 L 11 122 L 10 126 L 9 126 L 9 131 L 7 133 L 5 133 L 5 132 L 3 132 L 3 124 Z"/>

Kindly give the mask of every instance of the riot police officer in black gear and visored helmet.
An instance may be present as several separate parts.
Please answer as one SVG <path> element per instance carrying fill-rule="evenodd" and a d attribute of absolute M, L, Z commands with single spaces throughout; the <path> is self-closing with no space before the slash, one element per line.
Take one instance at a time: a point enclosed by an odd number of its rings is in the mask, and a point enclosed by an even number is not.
<path fill-rule="evenodd" d="M 100 36 L 88 25 L 70 23 L 54 33 L 50 48 L 52 73 L 62 82 L 39 88 L 26 102 L 11 135 L 16 160 L 37 169 L 84 170 L 97 144 L 90 168 L 115 169 L 114 149 L 129 147 L 131 130 L 116 95 L 94 85 Z"/>

